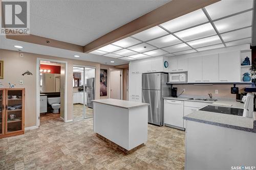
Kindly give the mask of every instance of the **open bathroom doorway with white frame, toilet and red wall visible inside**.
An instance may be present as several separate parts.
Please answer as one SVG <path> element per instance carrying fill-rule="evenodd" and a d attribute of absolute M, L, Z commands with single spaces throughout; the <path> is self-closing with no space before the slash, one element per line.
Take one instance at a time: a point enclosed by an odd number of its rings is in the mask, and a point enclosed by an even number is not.
<path fill-rule="evenodd" d="M 67 122 L 67 62 L 37 58 L 36 126 L 41 115 L 54 115 Z"/>

